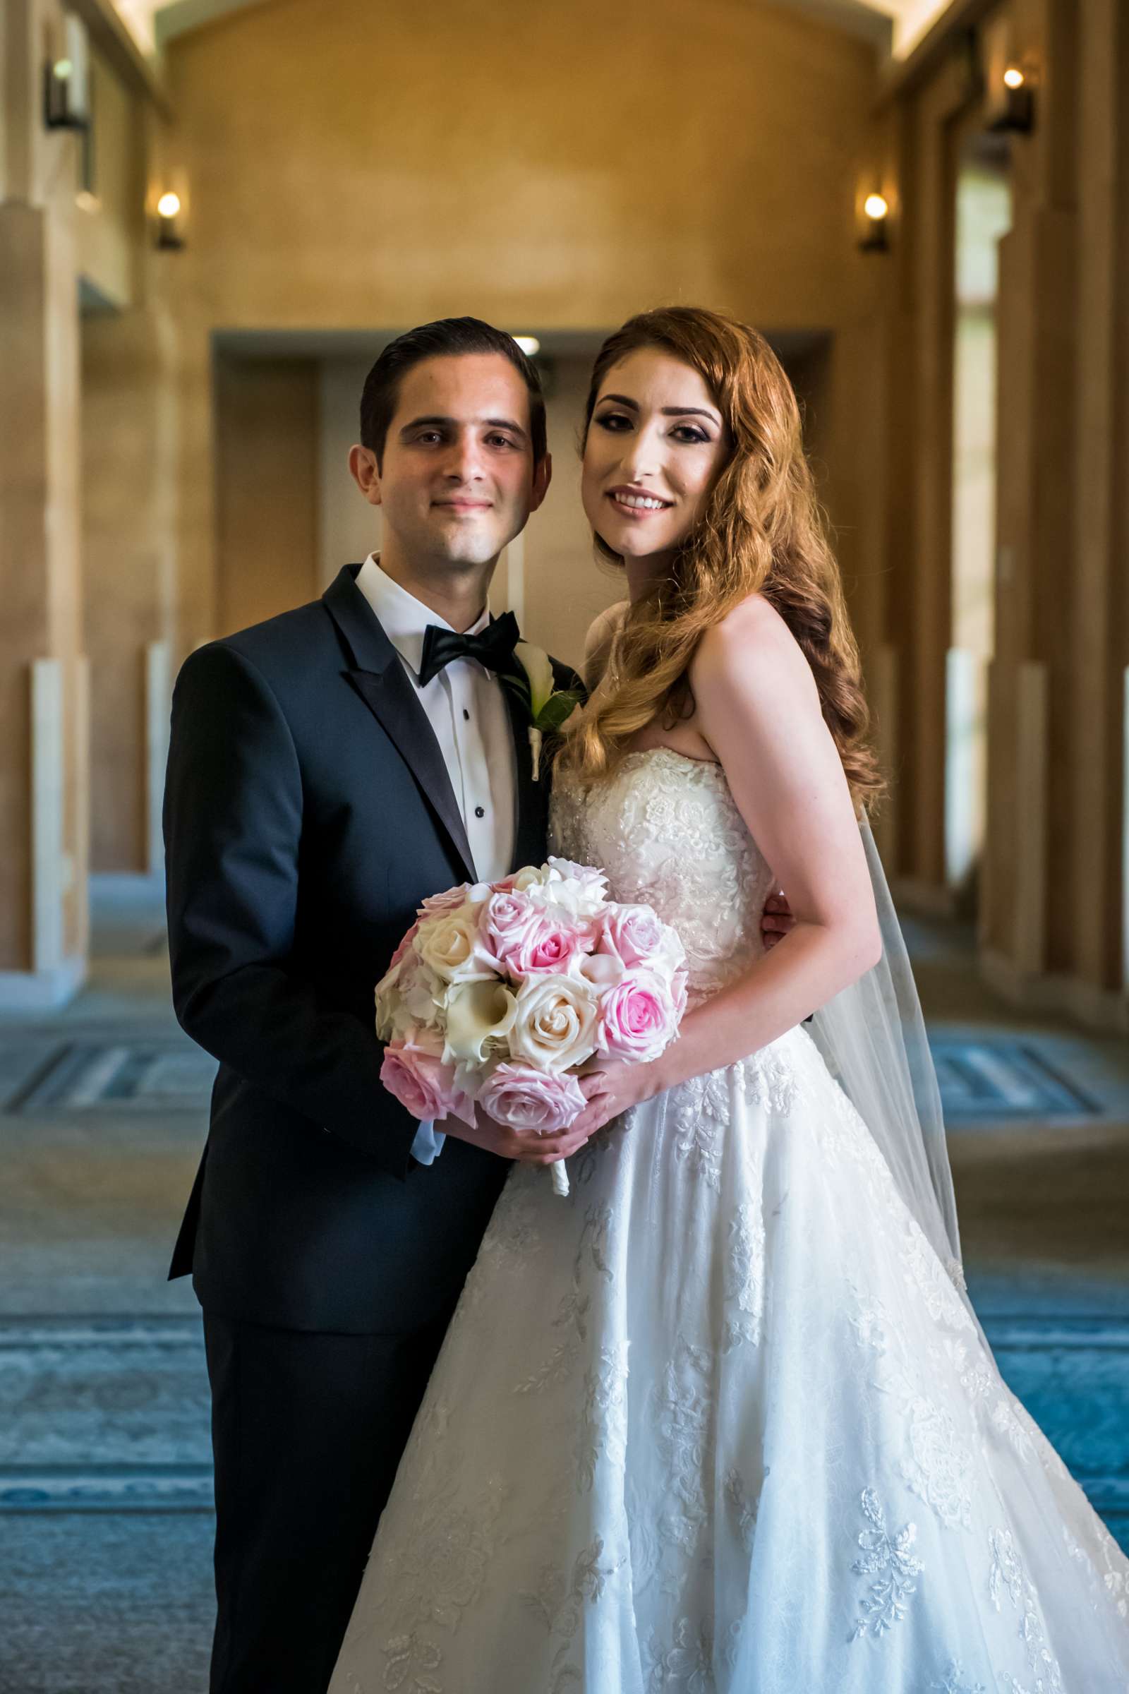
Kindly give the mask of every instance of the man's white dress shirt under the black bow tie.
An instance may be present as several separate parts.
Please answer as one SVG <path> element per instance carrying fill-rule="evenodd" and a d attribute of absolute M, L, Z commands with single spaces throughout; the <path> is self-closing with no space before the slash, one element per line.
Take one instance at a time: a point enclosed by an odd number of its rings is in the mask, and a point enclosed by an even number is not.
<path fill-rule="evenodd" d="M 476 659 L 452 659 L 420 688 L 423 632 L 428 623 L 440 628 L 450 623 L 386 576 L 374 552 L 357 573 L 357 588 L 399 654 L 435 730 L 479 881 L 496 883 L 509 874 L 518 825 L 516 756 L 503 684 Z M 482 612 L 465 634 L 477 635 L 487 623 L 489 612 Z M 432 1123 L 421 1123 L 411 1154 L 420 1164 L 432 1164 L 443 1140 Z"/>

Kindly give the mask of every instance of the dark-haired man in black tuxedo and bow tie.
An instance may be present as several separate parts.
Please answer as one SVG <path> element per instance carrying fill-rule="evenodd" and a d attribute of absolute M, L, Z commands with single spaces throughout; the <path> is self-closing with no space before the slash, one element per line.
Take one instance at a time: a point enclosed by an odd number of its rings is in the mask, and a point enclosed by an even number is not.
<path fill-rule="evenodd" d="M 438 1147 L 381 1086 L 372 1008 L 427 894 L 545 857 L 548 783 L 498 681 L 518 632 L 486 613 L 548 488 L 537 371 L 476 318 L 411 330 L 361 442 L 379 559 L 191 654 L 173 698 L 173 998 L 220 1060 L 169 1272 L 212 1382 L 212 1694 L 327 1687 L 506 1160 L 547 1150 L 486 1118 Z"/>

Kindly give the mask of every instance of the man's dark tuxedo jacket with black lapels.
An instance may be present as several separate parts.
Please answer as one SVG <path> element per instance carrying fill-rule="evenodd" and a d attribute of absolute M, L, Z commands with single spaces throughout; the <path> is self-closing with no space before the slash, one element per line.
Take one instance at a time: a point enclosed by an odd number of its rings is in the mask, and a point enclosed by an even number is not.
<path fill-rule="evenodd" d="M 438 742 L 345 566 L 320 601 L 200 647 L 164 793 L 173 999 L 220 1060 L 169 1276 L 276 1328 L 406 1333 L 457 1296 L 508 1165 L 432 1165 L 379 1081 L 372 991 L 427 894 L 474 881 Z M 553 664 L 557 686 L 579 679 Z M 545 855 L 548 766 L 506 693 L 515 869 Z"/>

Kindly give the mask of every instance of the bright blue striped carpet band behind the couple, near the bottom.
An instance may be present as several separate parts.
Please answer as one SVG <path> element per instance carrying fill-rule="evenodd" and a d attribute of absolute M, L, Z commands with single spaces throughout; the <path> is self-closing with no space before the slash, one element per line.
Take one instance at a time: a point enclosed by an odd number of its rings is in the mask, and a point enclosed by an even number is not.
<path fill-rule="evenodd" d="M 1129 1548 L 1129 1320 L 989 1320 L 1000 1370 Z M 210 1513 L 200 1320 L 0 1318 L 0 1513 Z"/>

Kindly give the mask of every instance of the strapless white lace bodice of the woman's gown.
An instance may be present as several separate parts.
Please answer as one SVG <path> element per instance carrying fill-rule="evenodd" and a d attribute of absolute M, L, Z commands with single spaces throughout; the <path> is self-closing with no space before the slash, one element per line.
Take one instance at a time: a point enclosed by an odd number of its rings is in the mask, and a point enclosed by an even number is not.
<path fill-rule="evenodd" d="M 608 872 L 611 900 L 647 903 L 682 937 L 697 993 L 760 954 L 772 869 L 719 764 L 670 747 L 630 752 L 608 778 L 553 781 L 552 850 Z"/>

